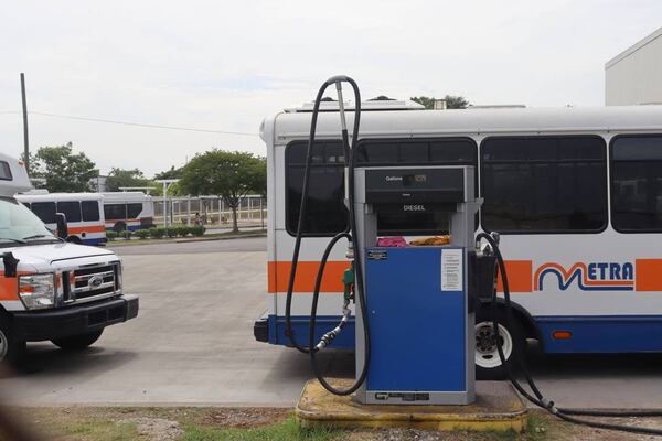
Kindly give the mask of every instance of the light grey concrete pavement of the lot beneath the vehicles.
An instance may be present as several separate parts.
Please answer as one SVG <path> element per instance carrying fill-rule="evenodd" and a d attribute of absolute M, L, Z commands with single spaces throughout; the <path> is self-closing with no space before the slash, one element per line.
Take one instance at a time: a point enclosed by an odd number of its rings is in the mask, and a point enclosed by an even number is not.
<path fill-rule="evenodd" d="M 292 406 L 311 378 L 308 356 L 257 343 L 267 305 L 266 239 L 118 247 L 140 314 L 82 353 L 29 345 L 25 367 L 0 379 L 11 405 Z M 353 355 L 321 356 L 352 377 Z M 543 391 L 565 407 L 662 407 L 661 355 L 532 354 Z"/>

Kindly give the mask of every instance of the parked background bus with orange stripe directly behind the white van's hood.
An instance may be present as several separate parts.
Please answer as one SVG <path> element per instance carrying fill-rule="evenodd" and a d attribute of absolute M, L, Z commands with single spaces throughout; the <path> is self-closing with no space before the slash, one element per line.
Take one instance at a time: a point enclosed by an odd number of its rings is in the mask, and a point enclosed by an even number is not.
<path fill-rule="evenodd" d="M 83 245 L 106 244 L 103 196 L 99 193 L 49 193 L 33 190 L 17 194 L 17 200 L 55 230 L 55 213 L 66 217 L 67 241 Z"/>

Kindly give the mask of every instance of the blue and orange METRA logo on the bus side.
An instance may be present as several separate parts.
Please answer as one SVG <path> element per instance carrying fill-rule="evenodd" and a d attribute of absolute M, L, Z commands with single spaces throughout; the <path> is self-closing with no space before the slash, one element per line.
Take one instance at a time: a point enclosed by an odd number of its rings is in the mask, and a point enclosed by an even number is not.
<path fill-rule="evenodd" d="M 542 291 L 545 281 L 556 281 L 564 291 L 573 283 L 583 291 L 633 291 L 634 266 L 630 262 L 577 262 L 566 270 L 558 263 L 547 262 L 534 273 L 534 291 Z"/>

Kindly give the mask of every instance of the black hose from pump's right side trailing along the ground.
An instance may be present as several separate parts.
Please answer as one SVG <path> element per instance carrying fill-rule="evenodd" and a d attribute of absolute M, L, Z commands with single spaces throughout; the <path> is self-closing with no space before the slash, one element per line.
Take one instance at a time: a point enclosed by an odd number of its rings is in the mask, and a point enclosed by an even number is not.
<path fill-rule="evenodd" d="M 479 233 L 476 236 L 476 239 L 477 240 L 485 239 L 492 247 L 492 250 L 494 251 L 494 256 L 496 257 L 496 262 L 498 262 L 498 267 L 499 267 L 499 273 L 501 275 L 501 281 L 503 283 L 503 300 L 504 300 L 504 304 L 505 304 L 505 318 L 509 323 L 514 323 L 511 299 L 510 299 L 510 288 L 509 288 L 509 283 L 508 283 L 508 273 L 505 271 L 505 263 L 503 261 L 503 256 L 501 255 L 501 250 L 499 249 L 499 245 L 496 244 L 494 238 L 487 233 Z M 495 312 L 495 309 L 496 309 L 496 292 L 494 292 L 494 294 L 492 295 L 492 312 Z M 493 315 L 496 316 L 495 314 L 493 314 Z M 618 430 L 618 431 L 624 431 L 624 432 L 631 432 L 631 433 L 662 435 L 661 429 L 643 428 L 643 427 L 626 426 L 626 424 L 613 424 L 613 423 L 606 423 L 606 422 L 591 421 L 591 420 L 576 418 L 576 416 L 612 417 L 612 418 L 613 417 L 659 417 L 659 416 L 662 416 L 662 411 L 638 410 L 638 409 L 623 410 L 623 411 L 590 410 L 590 409 L 567 409 L 567 408 L 556 407 L 554 401 L 545 398 L 543 396 L 543 394 L 540 391 L 540 389 L 535 385 L 535 381 L 533 380 L 533 377 L 531 376 L 531 373 L 528 370 L 528 367 L 526 365 L 524 357 L 521 356 L 517 358 L 519 367 L 521 368 L 522 375 L 526 379 L 526 383 L 528 384 L 533 394 L 528 392 L 526 389 L 524 389 L 524 387 L 515 378 L 515 375 L 512 370 L 511 364 L 505 359 L 505 355 L 503 354 L 503 348 L 501 347 L 501 344 L 500 344 L 499 325 L 498 325 L 496 321 L 492 322 L 492 326 L 493 326 L 494 336 L 496 338 L 496 352 L 499 353 L 499 358 L 501 359 L 501 363 L 505 367 L 509 380 L 522 396 L 524 396 L 526 399 L 528 399 L 534 405 L 547 410 L 549 413 L 556 416 L 557 418 L 559 418 L 564 421 L 573 422 L 576 424 L 588 426 L 588 427 L 592 427 L 596 429 Z M 513 329 L 513 327 L 511 326 L 511 329 Z"/>

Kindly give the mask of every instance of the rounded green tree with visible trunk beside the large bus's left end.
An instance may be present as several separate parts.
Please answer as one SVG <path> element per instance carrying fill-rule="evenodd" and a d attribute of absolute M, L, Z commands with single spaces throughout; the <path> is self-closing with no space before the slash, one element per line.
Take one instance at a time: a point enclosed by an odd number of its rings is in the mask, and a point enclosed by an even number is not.
<path fill-rule="evenodd" d="M 192 195 L 220 195 L 233 213 L 233 232 L 238 232 L 237 208 L 249 193 L 264 194 L 266 160 L 253 153 L 211 150 L 196 154 L 182 168 L 180 191 Z"/>

